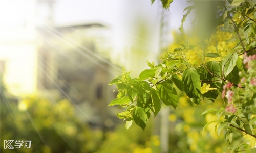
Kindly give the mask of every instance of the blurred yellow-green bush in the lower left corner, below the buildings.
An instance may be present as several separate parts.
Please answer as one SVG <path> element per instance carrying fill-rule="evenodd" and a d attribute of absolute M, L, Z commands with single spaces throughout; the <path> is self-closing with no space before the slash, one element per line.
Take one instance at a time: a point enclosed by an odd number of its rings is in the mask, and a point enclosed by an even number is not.
<path fill-rule="evenodd" d="M 1 140 L 32 141 L 30 149 L 4 150 L 2 143 L 1 152 L 92 152 L 101 144 L 102 131 L 79 122 L 68 100 L 2 96 L 0 105 Z"/>

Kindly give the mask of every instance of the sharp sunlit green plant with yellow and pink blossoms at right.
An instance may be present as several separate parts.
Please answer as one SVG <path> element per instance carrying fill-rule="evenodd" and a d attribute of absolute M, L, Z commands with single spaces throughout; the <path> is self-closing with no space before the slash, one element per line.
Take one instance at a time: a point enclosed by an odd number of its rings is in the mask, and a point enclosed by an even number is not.
<path fill-rule="evenodd" d="M 172 1 L 161 2 L 168 9 Z M 123 70 L 121 76 L 110 82 L 116 85 L 119 93 L 109 106 L 125 108 L 117 116 L 126 121 L 126 129 L 133 122 L 145 129 L 147 120 L 152 113 L 158 114 L 162 103 L 176 109 L 182 93 L 195 105 L 203 99 L 215 102 L 219 97 L 223 100 L 220 108 L 202 113 L 216 112 L 217 115 L 217 119 L 208 122 L 204 129 L 216 122 L 217 134 L 225 131 L 228 144 L 233 134 L 248 141 L 232 150 L 251 149 L 256 145 L 256 73 L 253 69 L 256 66 L 256 3 L 251 0 L 204 3 L 213 3 L 214 11 L 211 15 L 199 16 L 194 29 L 186 35 L 183 23 L 188 14 L 192 10 L 202 14 L 205 9 L 197 1 L 194 6 L 185 8 L 179 29 L 186 41 L 164 53 L 160 64 L 147 62 L 150 69 L 142 71 L 138 78 L 131 78 L 130 72 Z M 214 26 L 207 27 L 209 21 L 215 23 Z M 220 119 L 222 117 L 224 119 Z"/>

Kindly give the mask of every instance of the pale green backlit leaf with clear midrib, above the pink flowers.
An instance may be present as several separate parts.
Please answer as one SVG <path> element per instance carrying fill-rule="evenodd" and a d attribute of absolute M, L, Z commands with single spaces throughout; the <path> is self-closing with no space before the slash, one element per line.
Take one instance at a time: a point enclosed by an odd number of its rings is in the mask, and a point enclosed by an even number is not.
<path fill-rule="evenodd" d="M 229 53 L 222 61 L 222 71 L 224 75 L 227 76 L 236 66 L 238 60 L 238 54 L 236 52 Z"/>

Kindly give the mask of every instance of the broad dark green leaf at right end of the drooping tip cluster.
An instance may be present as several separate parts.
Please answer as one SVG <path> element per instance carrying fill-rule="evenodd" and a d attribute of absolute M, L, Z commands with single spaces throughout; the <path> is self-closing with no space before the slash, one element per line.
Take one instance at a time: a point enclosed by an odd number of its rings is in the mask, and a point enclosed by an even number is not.
<path fill-rule="evenodd" d="M 172 105 L 176 109 L 178 105 L 178 95 L 172 81 L 166 80 L 157 85 L 160 99 L 167 106 Z"/>

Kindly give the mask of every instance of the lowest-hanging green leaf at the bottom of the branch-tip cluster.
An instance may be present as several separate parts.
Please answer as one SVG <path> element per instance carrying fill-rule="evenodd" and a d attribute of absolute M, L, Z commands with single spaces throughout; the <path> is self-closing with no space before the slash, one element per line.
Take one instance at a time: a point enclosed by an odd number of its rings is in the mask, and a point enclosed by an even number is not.
<path fill-rule="evenodd" d="M 144 108 L 142 107 L 136 107 L 133 110 L 133 119 L 134 122 L 141 127 L 141 129 L 145 129 L 146 127 L 146 119 L 147 119 L 147 115 L 146 112 L 144 110 Z"/>

